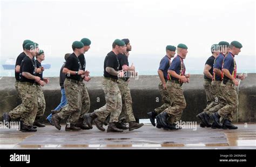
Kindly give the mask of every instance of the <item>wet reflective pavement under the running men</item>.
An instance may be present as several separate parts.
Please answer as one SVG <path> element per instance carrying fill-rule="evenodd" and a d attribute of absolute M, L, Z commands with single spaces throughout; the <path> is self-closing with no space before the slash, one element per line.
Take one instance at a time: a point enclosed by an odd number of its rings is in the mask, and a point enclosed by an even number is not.
<path fill-rule="evenodd" d="M 200 128 L 166 131 L 150 124 L 133 131 L 107 133 L 65 131 L 53 126 L 36 133 L 0 129 L 0 149 L 256 149 L 256 124 L 235 124 L 237 130 Z M 105 126 L 104 126 L 105 127 Z M 106 129 L 106 127 L 105 127 Z"/>

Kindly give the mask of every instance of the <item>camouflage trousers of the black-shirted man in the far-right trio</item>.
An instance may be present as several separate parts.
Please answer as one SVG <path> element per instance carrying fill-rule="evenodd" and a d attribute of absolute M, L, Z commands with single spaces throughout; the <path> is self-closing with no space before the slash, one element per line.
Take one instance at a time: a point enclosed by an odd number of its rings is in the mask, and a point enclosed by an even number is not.
<path fill-rule="evenodd" d="M 212 87 L 212 81 L 204 80 L 204 88 L 207 100 L 207 106 L 204 109 L 204 112 L 209 113 L 208 110 L 216 105 L 218 105 L 218 99 L 216 95 L 216 91 Z"/>

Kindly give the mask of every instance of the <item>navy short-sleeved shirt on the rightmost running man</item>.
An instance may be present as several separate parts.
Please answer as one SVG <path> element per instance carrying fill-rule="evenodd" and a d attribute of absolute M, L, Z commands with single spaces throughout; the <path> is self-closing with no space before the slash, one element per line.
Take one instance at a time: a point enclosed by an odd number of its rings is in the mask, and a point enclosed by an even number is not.
<path fill-rule="evenodd" d="M 228 53 L 224 58 L 223 69 L 228 69 L 228 71 L 230 71 L 230 74 L 235 77 L 236 66 L 237 65 L 234 60 L 234 55 L 231 52 Z M 224 79 L 229 79 L 229 78 L 224 75 Z"/>

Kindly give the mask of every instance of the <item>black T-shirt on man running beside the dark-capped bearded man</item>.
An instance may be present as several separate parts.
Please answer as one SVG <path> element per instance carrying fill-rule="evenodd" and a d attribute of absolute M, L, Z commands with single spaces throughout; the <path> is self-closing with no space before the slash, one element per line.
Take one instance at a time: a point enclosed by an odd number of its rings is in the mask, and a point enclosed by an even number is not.
<path fill-rule="evenodd" d="M 114 54 L 113 51 L 107 53 L 106 58 L 104 60 L 104 76 L 107 78 L 118 79 L 117 76 L 107 73 L 106 67 L 112 67 L 116 71 L 118 71 L 118 69 L 119 69 L 119 61 L 117 59 L 117 55 Z"/>

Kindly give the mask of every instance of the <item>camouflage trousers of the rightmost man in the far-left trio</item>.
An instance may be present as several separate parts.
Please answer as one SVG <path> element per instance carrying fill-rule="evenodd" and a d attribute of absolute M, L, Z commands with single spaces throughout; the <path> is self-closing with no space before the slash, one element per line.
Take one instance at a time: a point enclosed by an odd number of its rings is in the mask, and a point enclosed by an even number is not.
<path fill-rule="evenodd" d="M 41 117 L 44 115 L 44 111 L 45 111 L 44 93 L 40 85 L 36 85 L 36 89 L 37 89 L 37 104 L 38 104 L 36 117 Z"/>

